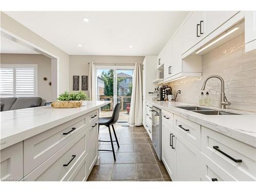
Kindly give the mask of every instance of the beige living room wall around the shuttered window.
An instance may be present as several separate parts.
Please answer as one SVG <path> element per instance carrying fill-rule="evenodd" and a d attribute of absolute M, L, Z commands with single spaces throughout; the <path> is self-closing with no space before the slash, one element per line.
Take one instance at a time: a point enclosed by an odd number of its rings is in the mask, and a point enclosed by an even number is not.
<path fill-rule="evenodd" d="M 40 54 L 1 54 L 1 64 L 37 64 L 37 96 L 52 101 L 51 58 Z M 47 81 L 43 78 L 47 77 Z"/>

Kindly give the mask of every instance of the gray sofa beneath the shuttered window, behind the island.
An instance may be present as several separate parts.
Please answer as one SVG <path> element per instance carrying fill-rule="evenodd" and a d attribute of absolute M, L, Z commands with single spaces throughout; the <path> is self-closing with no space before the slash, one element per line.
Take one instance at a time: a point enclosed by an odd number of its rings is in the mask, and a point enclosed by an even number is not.
<path fill-rule="evenodd" d="M 0 98 L 1 111 L 19 110 L 40 106 L 41 97 L 2 97 Z"/>

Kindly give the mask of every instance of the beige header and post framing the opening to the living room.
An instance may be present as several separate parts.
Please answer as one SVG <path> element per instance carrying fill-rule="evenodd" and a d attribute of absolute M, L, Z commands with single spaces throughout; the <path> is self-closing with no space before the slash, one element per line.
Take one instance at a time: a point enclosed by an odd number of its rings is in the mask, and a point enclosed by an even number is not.
<path fill-rule="evenodd" d="M 57 56 L 59 58 L 59 86 L 57 88 L 58 92 L 62 93 L 66 90 L 69 91 L 69 55 L 67 53 L 63 52 L 46 39 L 42 38 L 30 29 L 23 26 L 22 24 L 18 23 L 16 20 L 11 18 L 4 12 L 1 12 L 1 28 Z"/>

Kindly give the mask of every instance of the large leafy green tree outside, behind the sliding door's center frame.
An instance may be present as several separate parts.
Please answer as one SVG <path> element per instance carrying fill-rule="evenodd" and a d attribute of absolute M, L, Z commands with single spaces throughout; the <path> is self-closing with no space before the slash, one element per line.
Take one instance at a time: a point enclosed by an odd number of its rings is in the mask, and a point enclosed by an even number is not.
<path fill-rule="evenodd" d="M 104 82 L 104 95 L 114 96 L 114 70 L 102 72 L 100 78 Z M 119 84 L 124 80 L 123 77 L 117 78 L 117 95 L 119 94 Z"/>

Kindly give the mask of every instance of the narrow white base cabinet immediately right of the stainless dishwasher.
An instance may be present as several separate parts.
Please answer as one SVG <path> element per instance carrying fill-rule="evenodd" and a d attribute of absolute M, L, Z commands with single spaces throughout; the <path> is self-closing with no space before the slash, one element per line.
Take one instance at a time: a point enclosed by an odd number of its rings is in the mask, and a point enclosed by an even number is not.
<path fill-rule="evenodd" d="M 173 114 L 162 111 L 162 161 L 172 181 L 176 181 L 176 150 L 172 146 L 175 136 L 172 127 Z"/>

